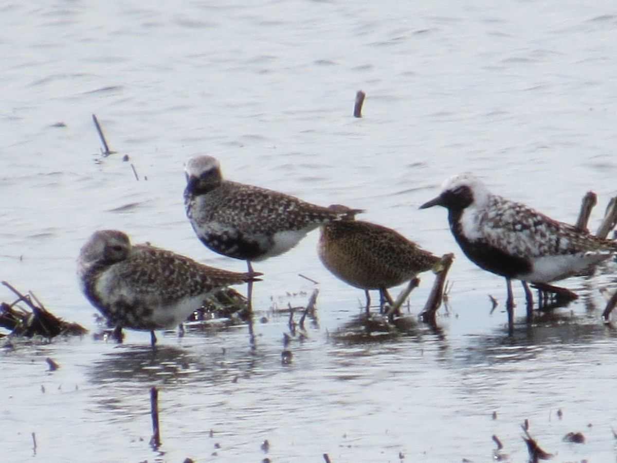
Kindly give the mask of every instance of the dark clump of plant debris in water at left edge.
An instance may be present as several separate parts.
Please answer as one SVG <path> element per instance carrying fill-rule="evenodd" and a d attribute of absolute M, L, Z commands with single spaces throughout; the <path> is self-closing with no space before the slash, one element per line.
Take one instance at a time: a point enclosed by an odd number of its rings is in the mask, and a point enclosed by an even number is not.
<path fill-rule="evenodd" d="M 44 336 L 54 338 L 58 335 L 82 336 L 88 332 L 77 323 L 65 322 L 49 312 L 33 293 L 22 294 L 7 282 L 2 285 L 9 288 L 19 299 L 12 302 L 0 302 L 0 326 L 14 336 Z M 23 302 L 28 309 L 19 305 Z"/>

